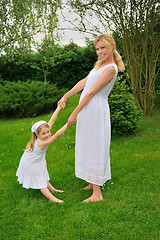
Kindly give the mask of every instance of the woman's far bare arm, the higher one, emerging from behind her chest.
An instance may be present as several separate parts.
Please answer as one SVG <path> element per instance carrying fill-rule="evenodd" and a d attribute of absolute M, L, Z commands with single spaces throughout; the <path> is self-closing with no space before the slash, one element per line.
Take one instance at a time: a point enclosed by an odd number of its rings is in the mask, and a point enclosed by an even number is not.
<path fill-rule="evenodd" d="M 84 78 L 82 80 L 80 80 L 71 90 L 69 90 L 58 102 L 58 105 L 62 105 L 65 104 L 65 102 L 67 101 L 68 98 L 70 98 L 71 96 L 73 96 L 74 94 L 76 94 L 77 92 L 80 92 L 86 85 L 86 81 L 87 78 Z"/>

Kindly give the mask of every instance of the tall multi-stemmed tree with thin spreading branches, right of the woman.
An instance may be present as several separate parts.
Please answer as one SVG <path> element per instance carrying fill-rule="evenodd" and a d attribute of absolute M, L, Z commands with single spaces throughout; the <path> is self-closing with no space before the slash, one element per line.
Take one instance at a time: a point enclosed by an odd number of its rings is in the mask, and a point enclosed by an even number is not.
<path fill-rule="evenodd" d="M 158 0 L 69 0 L 73 30 L 97 35 L 119 33 L 131 90 L 137 106 L 150 115 L 154 106 L 156 63 L 160 53 Z M 62 8 L 63 13 L 63 8 Z M 65 20 L 67 17 L 64 15 Z M 96 24 L 97 22 L 97 24 Z M 102 29 L 102 30 L 101 30 Z"/>

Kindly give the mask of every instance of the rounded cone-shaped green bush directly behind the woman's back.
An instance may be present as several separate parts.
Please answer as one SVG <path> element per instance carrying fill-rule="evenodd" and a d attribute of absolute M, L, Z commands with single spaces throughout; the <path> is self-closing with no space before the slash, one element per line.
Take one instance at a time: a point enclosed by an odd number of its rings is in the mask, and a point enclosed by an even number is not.
<path fill-rule="evenodd" d="M 126 81 L 119 76 L 108 99 L 114 135 L 133 134 L 139 126 L 142 112 L 129 91 Z"/>

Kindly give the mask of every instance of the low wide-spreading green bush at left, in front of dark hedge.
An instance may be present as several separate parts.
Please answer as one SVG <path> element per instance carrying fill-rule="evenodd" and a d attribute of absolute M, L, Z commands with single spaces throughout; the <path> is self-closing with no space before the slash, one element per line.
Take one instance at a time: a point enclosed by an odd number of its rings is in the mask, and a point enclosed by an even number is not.
<path fill-rule="evenodd" d="M 49 83 L 5 81 L 1 84 L 0 116 L 22 118 L 47 113 L 65 92 Z"/>

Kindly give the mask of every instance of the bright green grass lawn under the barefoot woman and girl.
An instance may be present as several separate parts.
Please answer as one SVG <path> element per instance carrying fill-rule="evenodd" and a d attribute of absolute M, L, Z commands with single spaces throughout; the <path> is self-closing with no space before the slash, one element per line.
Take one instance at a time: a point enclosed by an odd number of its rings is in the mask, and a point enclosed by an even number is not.
<path fill-rule="evenodd" d="M 66 121 L 78 102 L 68 100 L 52 133 Z M 112 179 L 103 188 L 104 200 L 81 203 L 91 195 L 74 174 L 75 125 L 47 150 L 50 182 L 65 190 L 48 201 L 39 190 L 24 189 L 15 176 L 29 141 L 32 124 L 51 114 L 29 119 L 1 120 L 1 239 L 15 240 L 158 240 L 160 105 L 144 117 L 134 136 L 112 137 Z"/>

